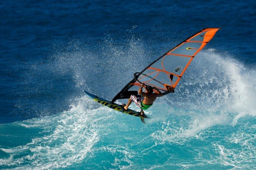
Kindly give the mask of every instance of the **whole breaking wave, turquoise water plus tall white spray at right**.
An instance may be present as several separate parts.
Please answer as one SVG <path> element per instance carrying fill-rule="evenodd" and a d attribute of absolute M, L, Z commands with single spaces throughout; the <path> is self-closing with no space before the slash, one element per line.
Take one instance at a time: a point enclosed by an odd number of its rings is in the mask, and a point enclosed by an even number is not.
<path fill-rule="evenodd" d="M 256 71 L 245 68 L 228 55 L 202 51 L 175 93 L 148 110 L 146 124 L 87 96 L 55 115 L 2 124 L 0 167 L 252 169 Z M 86 86 L 81 73 L 73 73 L 77 85 Z"/>

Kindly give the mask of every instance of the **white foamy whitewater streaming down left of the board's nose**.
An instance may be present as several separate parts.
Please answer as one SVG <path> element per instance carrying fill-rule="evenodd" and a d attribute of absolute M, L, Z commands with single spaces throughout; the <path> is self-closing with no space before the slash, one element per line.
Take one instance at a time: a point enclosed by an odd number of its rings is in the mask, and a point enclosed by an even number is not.
<path fill-rule="evenodd" d="M 93 112 L 78 105 L 60 115 L 13 123 L 17 129 L 25 127 L 27 133 L 35 131 L 31 134 L 34 137 L 25 145 L 0 148 L 9 155 L 0 159 L 0 167 L 55 169 L 80 163 L 100 139 L 100 118 L 94 117 Z"/>

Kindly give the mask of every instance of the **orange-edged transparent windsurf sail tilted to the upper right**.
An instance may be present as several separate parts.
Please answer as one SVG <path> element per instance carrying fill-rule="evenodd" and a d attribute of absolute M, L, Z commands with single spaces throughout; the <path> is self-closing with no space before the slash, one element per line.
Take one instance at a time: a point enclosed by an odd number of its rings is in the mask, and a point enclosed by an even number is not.
<path fill-rule="evenodd" d="M 164 95 L 173 93 L 194 56 L 206 46 L 219 29 L 206 28 L 197 32 L 156 59 L 141 72 L 135 73 L 133 80 L 123 87 L 112 102 L 117 99 L 128 99 L 131 94 L 139 96 L 138 90 L 141 83 L 156 87 Z"/>

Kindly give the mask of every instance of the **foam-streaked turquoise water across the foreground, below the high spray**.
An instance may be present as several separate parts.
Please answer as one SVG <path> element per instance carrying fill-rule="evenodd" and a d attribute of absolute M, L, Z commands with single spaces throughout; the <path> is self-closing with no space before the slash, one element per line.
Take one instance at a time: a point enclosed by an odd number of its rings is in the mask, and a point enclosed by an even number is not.
<path fill-rule="evenodd" d="M 104 107 L 91 109 L 85 100 L 58 115 L 1 125 L 1 167 L 254 168 L 256 121 L 252 116 L 236 122 L 239 115 L 189 116 L 168 106 L 154 113 L 161 109 L 159 104 L 145 125 Z"/>

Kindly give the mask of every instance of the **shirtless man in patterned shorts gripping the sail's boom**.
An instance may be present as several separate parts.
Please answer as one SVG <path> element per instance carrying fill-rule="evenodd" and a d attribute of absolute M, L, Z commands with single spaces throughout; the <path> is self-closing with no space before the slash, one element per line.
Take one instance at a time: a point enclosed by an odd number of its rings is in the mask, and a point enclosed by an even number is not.
<path fill-rule="evenodd" d="M 138 91 L 138 94 L 141 94 L 144 97 L 136 97 L 134 95 L 130 96 L 130 99 L 128 100 L 127 104 L 123 104 L 122 107 L 127 110 L 128 107 L 130 106 L 130 103 L 132 101 L 141 108 L 140 115 L 144 115 L 144 111 L 148 109 L 150 106 L 152 106 L 153 102 L 156 100 L 156 97 L 161 97 L 163 94 L 156 88 L 156 87 L 151 87 L 151 86 L 146 86 L 145 92 L 142 92 L 142 87 L 145 84 L 142 83 L 140 86 L 140 89 Z M 157 93 L 153 93 L 153 89 L 157 91 Z"/>

